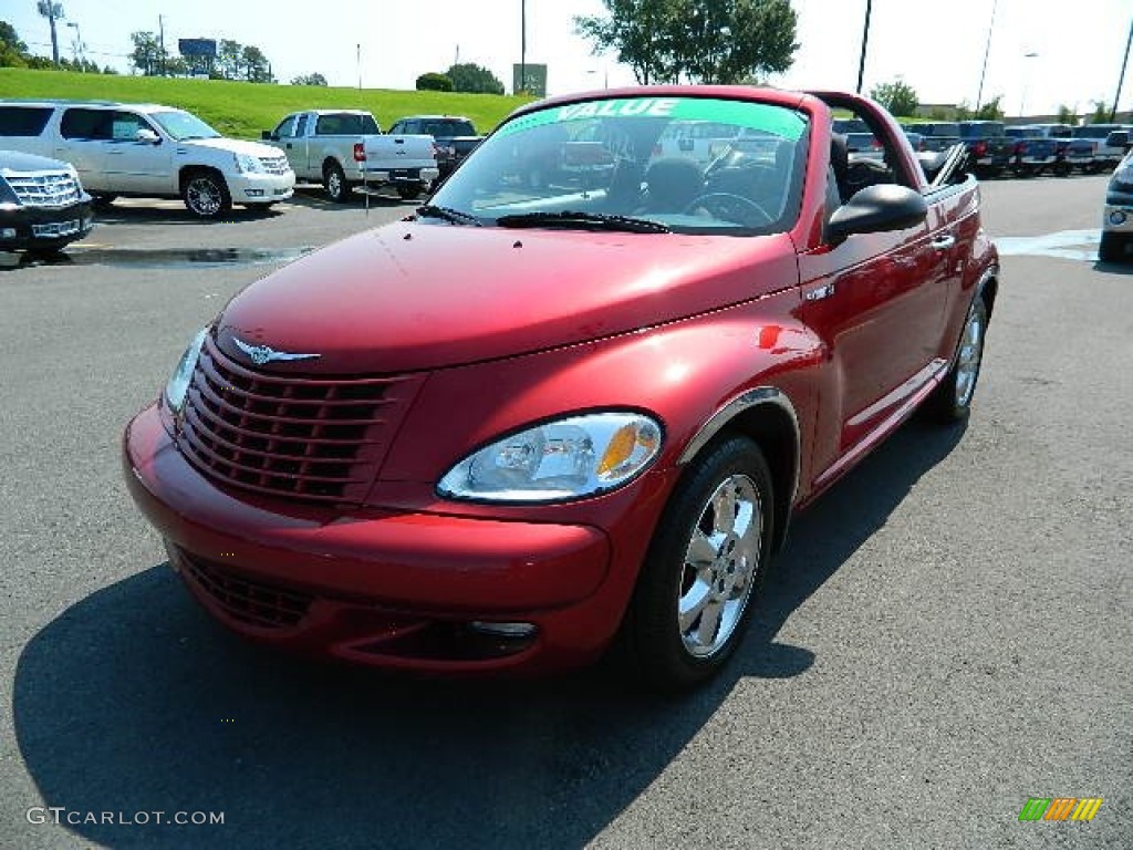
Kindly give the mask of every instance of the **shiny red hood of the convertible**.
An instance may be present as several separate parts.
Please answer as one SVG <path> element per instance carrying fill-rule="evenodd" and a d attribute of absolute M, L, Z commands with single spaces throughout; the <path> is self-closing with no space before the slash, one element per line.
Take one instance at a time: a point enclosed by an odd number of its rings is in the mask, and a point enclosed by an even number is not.
<path fill-rule="evenodd" d="M 252 284 L 220 347 L 317 354 L 281 373 L 412 372 L 628 333 L 795 286 L 786 235 L 704 237 L 402 222 Z"/>

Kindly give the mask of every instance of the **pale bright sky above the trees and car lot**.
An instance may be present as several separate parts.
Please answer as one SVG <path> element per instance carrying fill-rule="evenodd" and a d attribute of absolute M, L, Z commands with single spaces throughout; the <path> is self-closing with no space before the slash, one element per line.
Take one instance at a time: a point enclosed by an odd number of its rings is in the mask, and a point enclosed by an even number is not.
<path fill-rule="evenodd" d="M 87 58 L 130 73 L 130 33 L 233 39 L 259 48 L 281 82 L 320 73 L 331 85 L 412 88 L 418 75 L 458 58 L 492 69 L 511 90 L 520 61 L 523 0 L 62 0 L 60 51 L 82 35 Z M 770 78 L 783 88 L 853 91 L 867 0 L 792 0 L 799 17 L 794 65 Z M 527 52 L 546 63 L 550 94 L 632 85 L 616 56 L 594 56 L 574 34 L 577 15 L 600 0 L 526 0 Z M 993 23 L 994 10 L 994 23 Z M 33 53 L 50 56 L 36 0 L 0 0 Z M 1109 104 L 1133 22 L 1133 0 L 872 0 L 863 91 L 902 79 L 921 103 L 973 105 L 1002 95 L 1008 116 L 1080 113 Z M 68 26 L 75 24 L 76 26 Z M 987 57 L 985 66 L 985 56 Z M 1133 109 L 1133 62 L 1118 101 Z"/>

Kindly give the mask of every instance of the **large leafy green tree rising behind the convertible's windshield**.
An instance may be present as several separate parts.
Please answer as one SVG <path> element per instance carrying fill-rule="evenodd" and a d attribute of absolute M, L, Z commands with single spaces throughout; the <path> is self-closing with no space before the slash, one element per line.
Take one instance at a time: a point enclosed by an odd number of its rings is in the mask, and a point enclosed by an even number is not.
<path fill-rule="evenodd" d="M 790 0 L 603 0 L 576 17 L 594 52 L 615 51 L 638 83 L 739 83 L 785 71 L 798 19 Z"/>

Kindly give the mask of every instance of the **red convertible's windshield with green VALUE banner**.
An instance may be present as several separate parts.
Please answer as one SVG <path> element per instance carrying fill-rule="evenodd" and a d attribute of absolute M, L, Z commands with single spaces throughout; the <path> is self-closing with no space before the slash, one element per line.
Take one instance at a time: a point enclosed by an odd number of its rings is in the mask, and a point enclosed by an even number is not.
<path fill-rule="evenodd" d="M 806 130 L 799 112 L 744 101 L 551 107 L 489 136 L 432 209 L 503 227 L 780 232 L 799 214 Z"/>

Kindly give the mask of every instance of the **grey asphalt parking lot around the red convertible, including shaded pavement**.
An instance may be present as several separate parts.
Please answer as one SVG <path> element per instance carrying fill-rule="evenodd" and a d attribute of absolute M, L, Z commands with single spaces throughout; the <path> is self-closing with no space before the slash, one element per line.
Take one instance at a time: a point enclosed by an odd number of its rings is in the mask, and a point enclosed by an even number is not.
<path fill-rule="evenodd" d="M 725 674 L 671 700 L 249 647 L 134 510 L 122 426 L 201 325 L 414 204 L 120 202 L 66 258 L 0 255 L 0 847 L 1130 848 L 1133 265 L 1094 260 L 1105 182 L 985 185 L 970 423 L 911 422 L 801 515 Z M 1104 802 L 1021 823 L 1031 797 Z"/>

